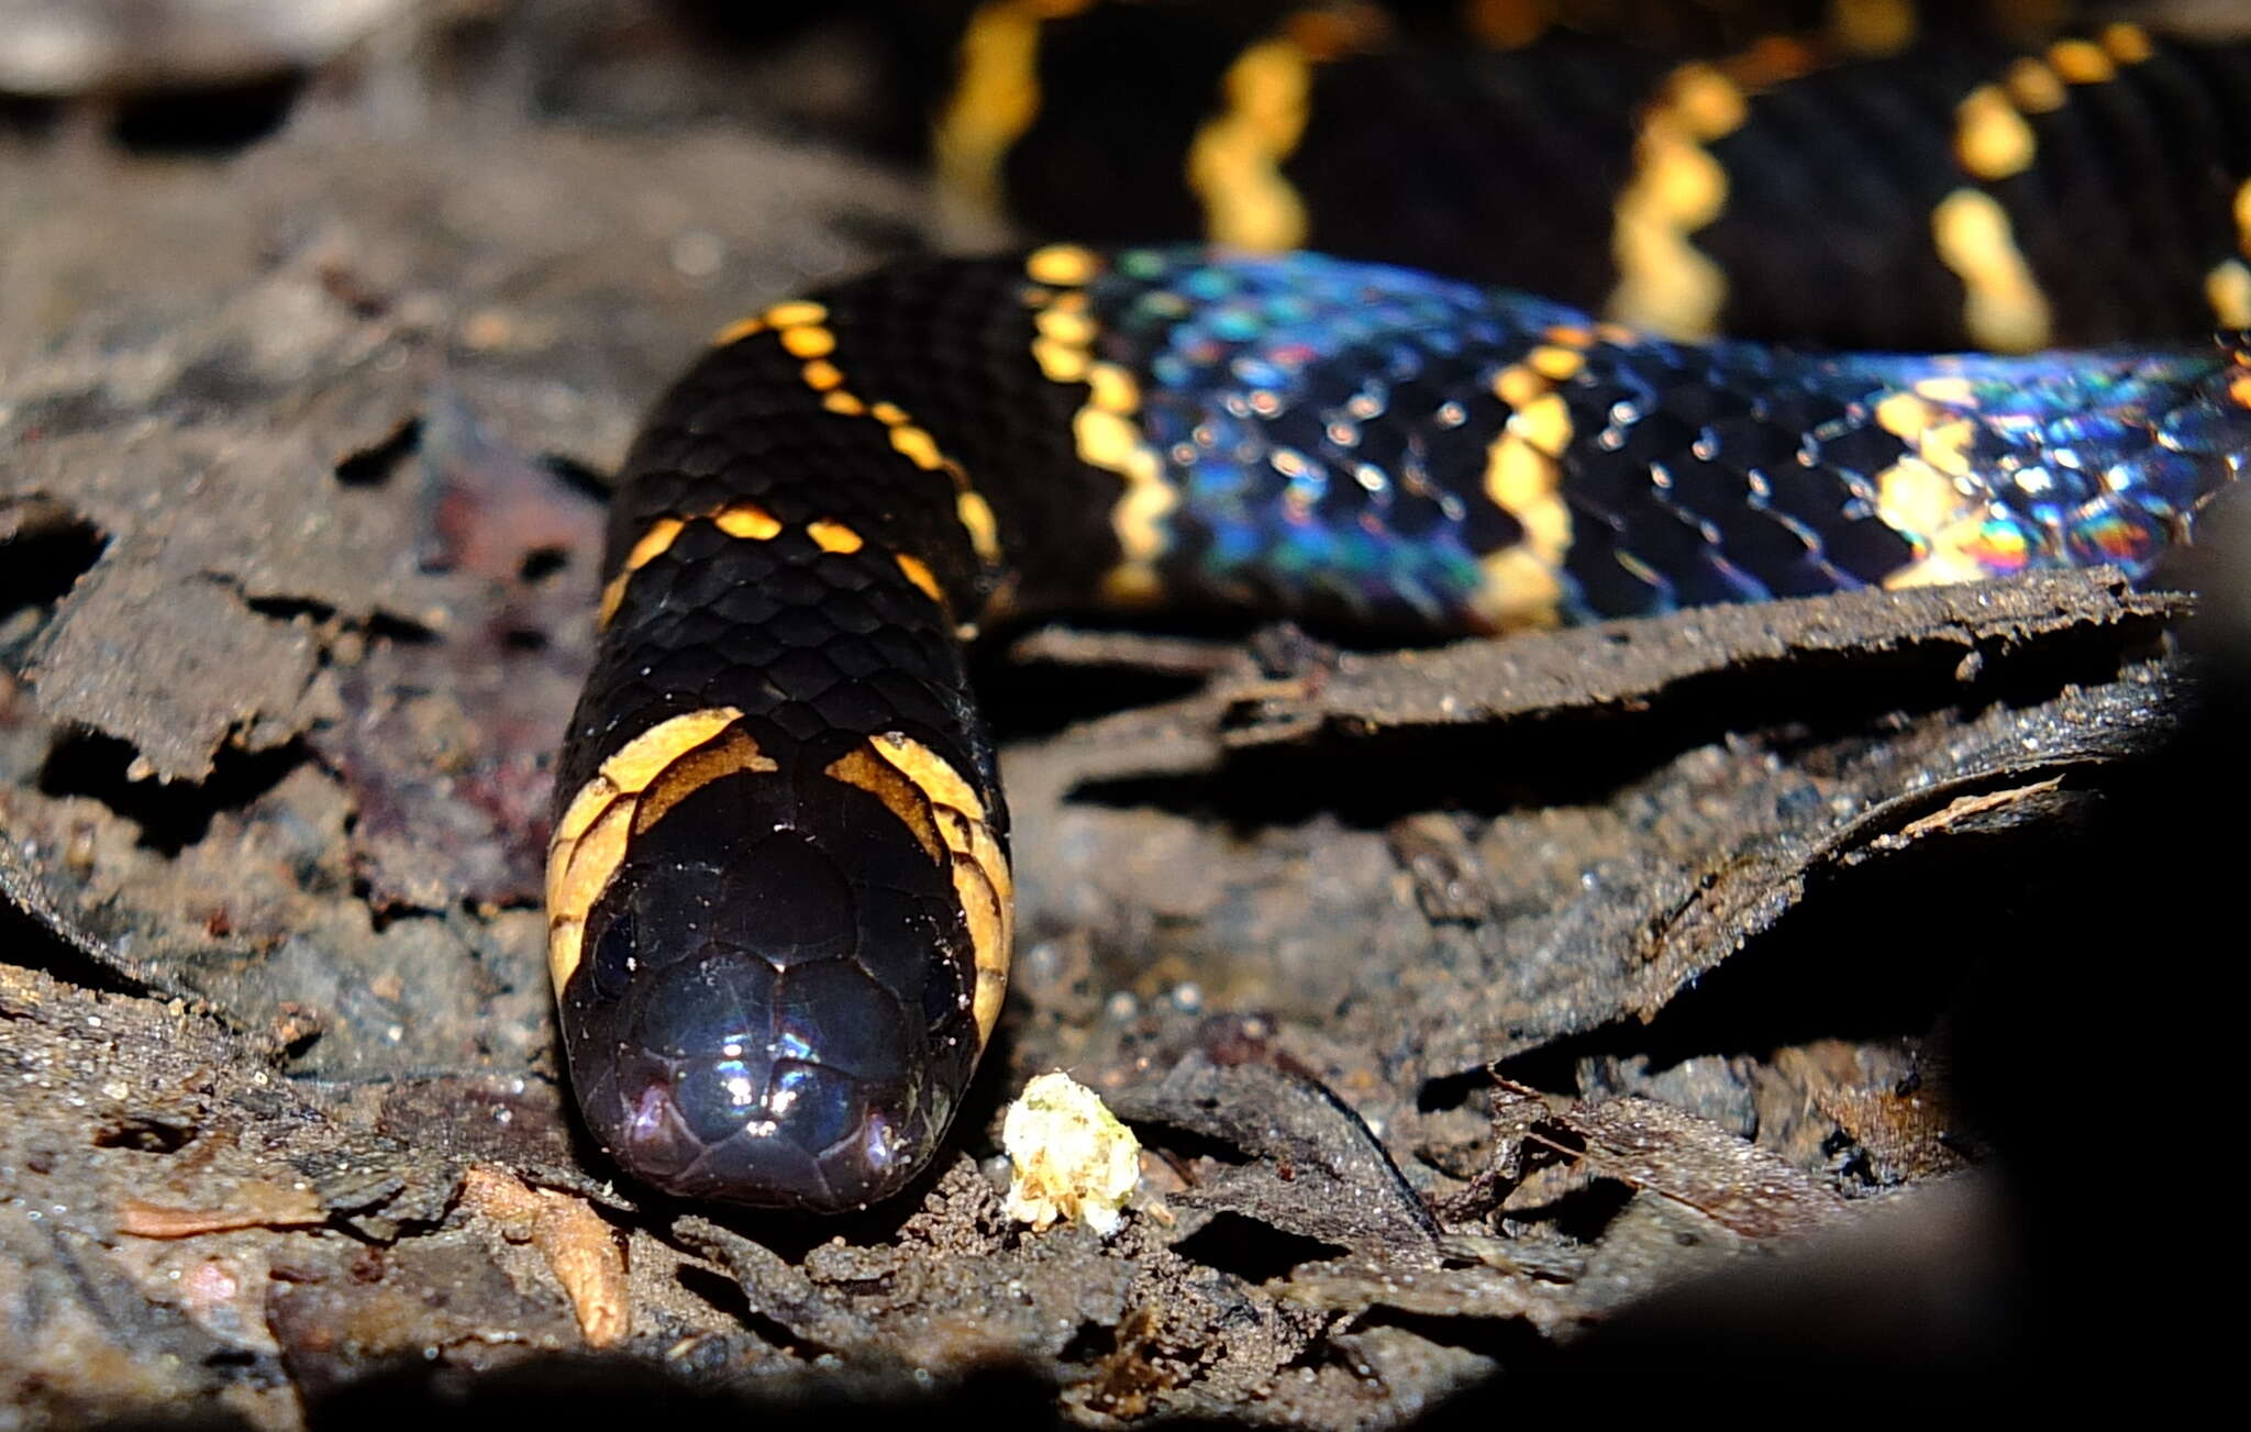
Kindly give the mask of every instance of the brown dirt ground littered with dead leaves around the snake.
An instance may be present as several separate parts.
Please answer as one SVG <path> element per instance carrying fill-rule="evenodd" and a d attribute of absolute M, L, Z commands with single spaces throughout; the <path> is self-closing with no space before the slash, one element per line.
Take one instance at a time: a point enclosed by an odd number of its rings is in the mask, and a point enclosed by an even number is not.
<path fill-rule="evenodd" d="M 842 1225 L 612 1184 L 538 910 L 603 473 L 930 203 L 815 124 L 828 41 L 365 9 L 185 77 L 254 137 L 171 144 L 119 50 L 0 142 L 0 1427 L 1826 1421 L 2201 1360 L 2242 603 L 2199 662 L 2100 572 L 1002 633 L 952 1153 Z M 1058 1067 L 1144 1142 L 1110 1238 L 1002 1209 Z"/>

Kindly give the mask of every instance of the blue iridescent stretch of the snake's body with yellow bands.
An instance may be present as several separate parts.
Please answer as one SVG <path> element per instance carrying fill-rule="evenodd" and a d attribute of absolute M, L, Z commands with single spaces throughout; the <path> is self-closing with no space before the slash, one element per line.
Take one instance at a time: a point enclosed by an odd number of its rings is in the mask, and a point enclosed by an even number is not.
<path fill-rule="evenodd" d="M 1562 619 L 2143 576 L 2251 450 L 2240 342 L 1679 344 L 1402 268 L 1180 248 L 1112 254 L 1089 295 L 1177 491 L 1164 576 L 1231 601 L 1459 626 L 1522 579 L 1499 554 L 1553 576 Z"/>

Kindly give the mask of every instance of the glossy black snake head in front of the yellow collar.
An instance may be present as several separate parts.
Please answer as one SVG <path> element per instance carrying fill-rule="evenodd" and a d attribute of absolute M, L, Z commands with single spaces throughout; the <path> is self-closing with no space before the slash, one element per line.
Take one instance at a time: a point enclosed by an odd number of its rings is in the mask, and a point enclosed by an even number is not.
<path fill-rule="evenodd" d="M 646 824 L 644 795 L 572 932 L 579 1108 L 666 1193 L 882 1200 L 936 1153 L 984 1042 L 950 853 L 864 808 L 864 790 L 799 786 L 729 770 Z"/>

